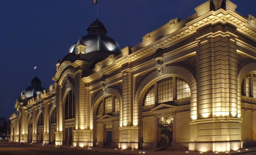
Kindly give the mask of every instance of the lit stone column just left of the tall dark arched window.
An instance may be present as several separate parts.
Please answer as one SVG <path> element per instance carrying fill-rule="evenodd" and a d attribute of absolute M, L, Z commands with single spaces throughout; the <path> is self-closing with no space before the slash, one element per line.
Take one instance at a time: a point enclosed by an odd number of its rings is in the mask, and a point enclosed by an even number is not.
<path fill-rule="evenodd" d="M 63 143 L 63 129 L 64 129 L 64 105 L 61 101 L 62 86 L 56 84 L 56 131 L 55 131 L 55 145 L 62 145 Z"/>

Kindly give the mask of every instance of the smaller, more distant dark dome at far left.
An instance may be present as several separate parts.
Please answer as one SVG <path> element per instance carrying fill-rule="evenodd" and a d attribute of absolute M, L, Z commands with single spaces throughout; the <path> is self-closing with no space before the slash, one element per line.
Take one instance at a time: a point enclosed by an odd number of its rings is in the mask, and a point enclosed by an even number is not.
<path fill-rule="evenodd" d="M 24 91 L 21 92 L 21 95 L 25 95 L 25 99 L 29 97 L 35 97 L 37 94 L 45 90 L 41 86 L 41 80 L 38 77 L 35 77 L 31 81 L 31 85 L 28 86 Z"/>

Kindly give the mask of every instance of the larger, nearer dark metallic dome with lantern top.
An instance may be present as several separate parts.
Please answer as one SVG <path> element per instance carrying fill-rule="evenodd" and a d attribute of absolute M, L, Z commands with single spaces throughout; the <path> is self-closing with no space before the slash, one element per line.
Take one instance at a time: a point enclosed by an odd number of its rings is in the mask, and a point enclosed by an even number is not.
<path fill-rule="evenodd" d="M 88 35 L 83 36 L 75 42 L 69 49 L 69 53 L 77 53 L 79 44 L 86 45 L 86 54 L 93 51 L 110 51 L 114 54 L 120 54 L 121 50 L 118 43 L 106 36 L 107 30 L 103 23 L 98 19 L 94 21 L 87 29 Z"/>

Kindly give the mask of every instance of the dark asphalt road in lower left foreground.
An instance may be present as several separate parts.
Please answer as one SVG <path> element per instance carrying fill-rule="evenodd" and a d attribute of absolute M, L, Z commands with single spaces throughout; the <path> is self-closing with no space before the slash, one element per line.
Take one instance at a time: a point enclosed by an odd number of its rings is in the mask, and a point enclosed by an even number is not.
<path fill-rule="evenodd" d="M 22 144 L 0 143 L 0 155 L 123 155 L 120 153 L 102 153 L 67 148 L 22 146 Z"/>

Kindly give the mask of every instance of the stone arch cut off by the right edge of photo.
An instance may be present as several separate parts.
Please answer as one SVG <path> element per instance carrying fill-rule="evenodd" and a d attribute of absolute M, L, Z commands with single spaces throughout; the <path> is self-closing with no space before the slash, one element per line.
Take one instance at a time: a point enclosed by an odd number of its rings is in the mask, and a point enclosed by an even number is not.
<path fill-rule="evenodd" d="M 238 73 L 237 76 L 237 100 L 238 100 L 238 105 L 237 105 L 237 117 L 241 117 L 241 87 L 242 87 L 242 82 L 244 77 L 246 76 L 247 73 L 255 71 L 256 70 L 256 63 L 250 63 L 246 64 Z"/>

